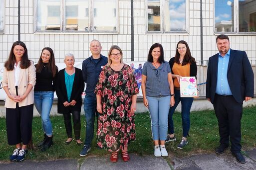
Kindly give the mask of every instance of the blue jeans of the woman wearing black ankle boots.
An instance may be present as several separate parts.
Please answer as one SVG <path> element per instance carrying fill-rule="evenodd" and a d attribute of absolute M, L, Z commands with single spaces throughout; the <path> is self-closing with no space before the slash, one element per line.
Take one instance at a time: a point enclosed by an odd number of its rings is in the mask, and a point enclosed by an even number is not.
<path fill-rule="evenodd" d="M 53 101 L 53 91 L 34 91 L 34 104 L 36 110 L 41 115 L 43 132 L 47 136 L 52 135 L 52 126 L 50 121 L 50 111 Z"/>

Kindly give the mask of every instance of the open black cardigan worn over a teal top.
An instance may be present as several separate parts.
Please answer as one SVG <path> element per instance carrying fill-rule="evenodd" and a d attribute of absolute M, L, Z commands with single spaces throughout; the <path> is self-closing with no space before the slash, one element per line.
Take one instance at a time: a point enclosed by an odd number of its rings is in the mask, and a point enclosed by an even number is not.
<path fill-rule="evenodd" d="M 58 113 L 69 113 L 69 111 L 79 111 L 81 112 L 82 106 L 82 92 L 84 90 L 84 81 L 82 76 L 82 71 L 75 68 L 75 78 L 73 82 L 72 92 L 70 96 L 70 101 L 75 100 L 76 104 L 74 106 L 69 106 L 69 109 L 63 105 L 67 99 L 67 89 L 65 83 L 65 69 L 59 71 L 58 79 L 56 83 L 56 94 L 58 96 Z"/>

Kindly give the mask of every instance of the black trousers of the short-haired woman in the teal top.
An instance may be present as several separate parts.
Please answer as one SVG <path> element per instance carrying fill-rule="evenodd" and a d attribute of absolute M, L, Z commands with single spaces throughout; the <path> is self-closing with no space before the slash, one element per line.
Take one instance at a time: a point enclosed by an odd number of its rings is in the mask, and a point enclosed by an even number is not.
<path fill-rule="evenodd" d="M 75 134 L 75 140 L 80 139 L 81 132 L 81 121 L 80 121 L 80 111 L 72 111 L 73 118 L 73 128 Z M 66 128 L 66 133 L 68 138 L 72 138 L 72 124 L 71 124 L 71 115 L 70 113 L 63 113 L 64 124 Z"/>

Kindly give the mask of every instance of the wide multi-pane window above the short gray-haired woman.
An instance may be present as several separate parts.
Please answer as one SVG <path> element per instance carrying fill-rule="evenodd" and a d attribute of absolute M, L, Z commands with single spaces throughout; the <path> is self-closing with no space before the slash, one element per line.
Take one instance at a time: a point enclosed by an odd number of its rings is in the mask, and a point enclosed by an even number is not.
<path fill-rule="evenodd" d="M 35 1 L 36 31 L 117 32 L 118 0 Z"/>

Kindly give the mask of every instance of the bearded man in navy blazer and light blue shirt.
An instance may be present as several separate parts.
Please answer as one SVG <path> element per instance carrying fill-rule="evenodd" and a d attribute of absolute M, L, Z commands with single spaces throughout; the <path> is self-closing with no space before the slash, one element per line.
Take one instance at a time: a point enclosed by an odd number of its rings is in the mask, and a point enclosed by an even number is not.
<path fill-rule="evenodd" d="M 229 147 L 239 163 L 244 164 L 241 154 L 241 118 L 243 101 L 254 96 L 254 73 L 245 51 L 230 49 L 227 35 L 216 38 L 219 53 L 209 58 L 206 98 L 213 103 L 219 124 L 222 154 Z"/>

